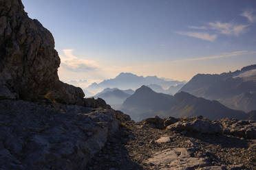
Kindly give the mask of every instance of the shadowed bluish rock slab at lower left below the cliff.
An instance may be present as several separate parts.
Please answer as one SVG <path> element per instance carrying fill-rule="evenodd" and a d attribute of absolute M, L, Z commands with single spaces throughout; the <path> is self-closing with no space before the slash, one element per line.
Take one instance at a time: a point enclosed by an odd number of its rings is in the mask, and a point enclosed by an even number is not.
<path fill-rule="evenodd" d="M 116 114 L 111 109 L 2 100 L 0 169 L 85 169 L 118 130 Z"/>

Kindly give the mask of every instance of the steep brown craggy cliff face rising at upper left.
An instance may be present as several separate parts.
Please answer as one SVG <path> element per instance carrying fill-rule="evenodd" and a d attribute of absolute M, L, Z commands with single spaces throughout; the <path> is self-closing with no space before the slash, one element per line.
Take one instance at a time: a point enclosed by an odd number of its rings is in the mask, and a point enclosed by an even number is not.
<path fill-rule="evenodd" d="M 23 8 L 21 0 L 0 0 L 0 99 L 83 105 L 83 90 L 58 79 L 52 34 Z"/>

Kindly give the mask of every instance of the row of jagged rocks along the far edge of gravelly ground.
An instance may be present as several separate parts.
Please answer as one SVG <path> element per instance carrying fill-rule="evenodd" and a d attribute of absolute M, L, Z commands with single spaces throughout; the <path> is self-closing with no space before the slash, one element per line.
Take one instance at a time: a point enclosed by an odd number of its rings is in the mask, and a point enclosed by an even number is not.
<path fill-rule="evenodd" d="M 141 121 L 141 123 L 160 130 L 166 129 L 167 131 L 182 134 L 199 132 L 202 134 L 224 134 L 256 139 L 256 122 L 252 120 L 226 118 L 210 121 L 202 116 L 184 117 L 182 119 L 176 119 L 174 117 L 161 119 L 160 117 L 155 116 L 145 119 Z"/>

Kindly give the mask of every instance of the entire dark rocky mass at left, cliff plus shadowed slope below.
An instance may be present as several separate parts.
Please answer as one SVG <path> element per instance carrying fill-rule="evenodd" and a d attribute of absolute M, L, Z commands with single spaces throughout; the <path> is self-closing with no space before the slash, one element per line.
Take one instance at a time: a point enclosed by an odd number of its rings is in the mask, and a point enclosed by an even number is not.
<path fill-rule="evenodd" d="M 0 0 L 0 169 L 85 169 L 129 117 L 58 79 L 54 38 L 23 8 Z"/>

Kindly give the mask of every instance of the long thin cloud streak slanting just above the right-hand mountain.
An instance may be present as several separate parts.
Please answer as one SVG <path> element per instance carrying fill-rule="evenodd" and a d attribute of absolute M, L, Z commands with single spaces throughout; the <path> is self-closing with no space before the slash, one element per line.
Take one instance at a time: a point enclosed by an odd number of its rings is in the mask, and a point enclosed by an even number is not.
<path fill-rule="evenodd" d="M 231 58 L 235 56 L 242 56 L 246 54 L 254 54 L 256 51 L 233 51 L 230 53 L 222 53 L 217 56 L 205 56 L 205 57 L 200 57 L 200 58 L 186 58 L 183 60 L 173 60 L 171 62 L 185 62 L 185 61 L 197 61 L 197 60 L 213 60 L 217 58 Z"/>

